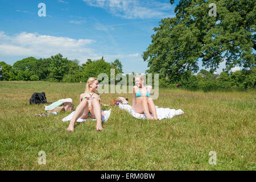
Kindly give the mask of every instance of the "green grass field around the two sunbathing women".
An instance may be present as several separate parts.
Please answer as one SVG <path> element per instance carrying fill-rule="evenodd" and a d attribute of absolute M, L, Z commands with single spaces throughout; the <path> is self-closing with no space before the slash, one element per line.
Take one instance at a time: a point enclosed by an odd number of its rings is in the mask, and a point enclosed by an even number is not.
<path fill-rule="evenodd" d="M 96 121 L 65 131 L 69 113 L 34 117 L 43 105 L 30 105 L 34 92 L 46 92 L 48 102 L 72 98 L 75 107 L 85 84 L 0 82 L 1 170 L 254 170 L 255 99 L 249 92 L 191 92 L 159 89 L 155 104 L 184 114 L 161 121 L 133 118 L 117 106 L 96 131 Z M 102 102 L 132 94 L 102 94 Z M 46 152 L 39 165 L 38 152 Z M 217 164 L 208 163 L 216 151 Z"/>

